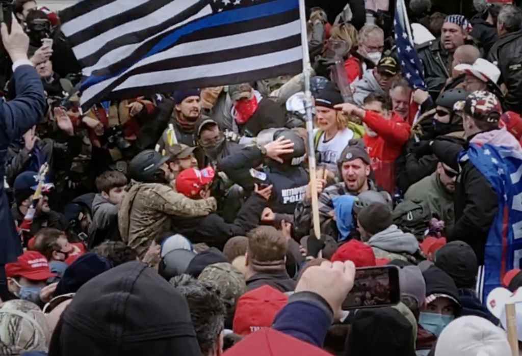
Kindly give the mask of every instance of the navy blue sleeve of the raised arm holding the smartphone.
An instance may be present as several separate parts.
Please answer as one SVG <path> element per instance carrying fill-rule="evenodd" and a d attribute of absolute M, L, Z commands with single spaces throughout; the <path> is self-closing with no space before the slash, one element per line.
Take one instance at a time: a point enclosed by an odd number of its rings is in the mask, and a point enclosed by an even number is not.
<path fill-rule="evenodd" d="M 333 321 L 334 312 L 323 297 L 312 292 L 297 292 L 277 313 L 272 329 L 322 348 Z"/>

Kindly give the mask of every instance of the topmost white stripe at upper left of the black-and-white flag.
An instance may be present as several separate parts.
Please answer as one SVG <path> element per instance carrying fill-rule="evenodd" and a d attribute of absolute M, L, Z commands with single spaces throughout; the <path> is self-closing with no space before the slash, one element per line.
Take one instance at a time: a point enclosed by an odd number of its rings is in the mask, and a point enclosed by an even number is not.
<path fill-rule="evenodd" d="M 116 14 L 130 10 L 136 6 L 147 3 L 150 0 L 117 0 L 117 1 L 105 1 L 105 0 L 84 0 L 80 4 L 96 5 L 94 8 L 89 8 L 89 11 L 81 11 L 80 16 L 67 16 L 67 9 L 60 12 L 60 20 L 62 21 L 62 31 L 67 35 L 74 34 L 88 27 L 93 26 L 97 22 L 108 19 Z M 106 4 L 105 4 L 106 3 Z M 74 6 L 73 6 L 74 7 Z M 87 6 L 89 7 L 89 6 Z M 65 17 L 63 17 L 65 13 Z"/>

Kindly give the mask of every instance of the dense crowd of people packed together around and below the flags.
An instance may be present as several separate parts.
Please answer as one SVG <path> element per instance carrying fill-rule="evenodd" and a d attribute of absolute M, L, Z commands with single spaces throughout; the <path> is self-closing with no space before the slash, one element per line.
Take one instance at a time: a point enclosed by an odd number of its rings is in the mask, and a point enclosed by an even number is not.
<path fill-rule="evenodd" d="M 477 162 L 483 147 L 522 158 L 522 10 L 477 0 L 466 18 L 410 0 L 423 90 L 401 71 L 388 6 L 306 3 L 314 152 L 303 73 L 81 112 L 60 14 L 14 1 L 0 354 L 511 354 L 522 272 L 491 236 L 518 238 L 519 203 L 492 183 L 501 156 L 493 173 Z M 400 302 L 377 279 L 347 299 L 356 268 L 380 266 L 398 270 Z M 518 304 L 516 321 L 522 342 Z"/>

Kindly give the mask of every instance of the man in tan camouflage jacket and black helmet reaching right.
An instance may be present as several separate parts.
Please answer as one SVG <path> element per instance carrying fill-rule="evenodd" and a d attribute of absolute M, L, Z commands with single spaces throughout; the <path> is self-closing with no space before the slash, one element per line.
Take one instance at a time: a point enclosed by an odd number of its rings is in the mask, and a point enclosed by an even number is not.
<path fill-rule="evenodd" d="M 156 236 L 172 230 L 173 216 L 206 216 L 216 210 L 216 199 L 192 200 L 170 187 L 174 173 L 168 159 L 154 150 L 145 150 L 128 166 L 129 177 L 136 183 L 123 199 L 118 227 L 123 241 L 140 257 Z"/>

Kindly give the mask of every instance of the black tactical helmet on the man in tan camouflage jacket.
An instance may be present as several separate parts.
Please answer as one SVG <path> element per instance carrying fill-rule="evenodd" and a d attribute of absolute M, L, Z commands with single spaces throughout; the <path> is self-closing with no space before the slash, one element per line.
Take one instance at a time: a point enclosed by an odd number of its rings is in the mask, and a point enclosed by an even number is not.
<path fill-rule="evenodd" d="M 165 173 L 160 169 L 169 156 L 162 156 L 154 150 L 138 153 L 128 165 L 128 175 L 131 179 L 143 183 L 161 183 L 165 181 Z"/>

